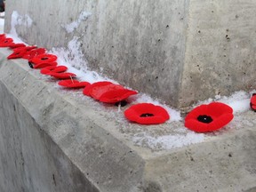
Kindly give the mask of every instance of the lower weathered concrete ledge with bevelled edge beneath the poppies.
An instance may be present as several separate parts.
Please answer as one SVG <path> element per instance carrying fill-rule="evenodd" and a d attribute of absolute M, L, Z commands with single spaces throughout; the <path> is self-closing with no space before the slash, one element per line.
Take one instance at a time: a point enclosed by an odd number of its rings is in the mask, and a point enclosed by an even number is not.
<path fill-rule="evenodd" d="M 139 145 L 134 137 L 140 134 L 176 137 L 190 131 L 182 122 L 128 123 L 127 107 L 120 113 L 81 90 L 60 89 L 25 60 L 5 60 L 9 53 L 0 50 L 1 191 L 256 189 L 254 112 L 236 114 L 226 129 L 195 145 L 161 148 L 147 140 Z"/>

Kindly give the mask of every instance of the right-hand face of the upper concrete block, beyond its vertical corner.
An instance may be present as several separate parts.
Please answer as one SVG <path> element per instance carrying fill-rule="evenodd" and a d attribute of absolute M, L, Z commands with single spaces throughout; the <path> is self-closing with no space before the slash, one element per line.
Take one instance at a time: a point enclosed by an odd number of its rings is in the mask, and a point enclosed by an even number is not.
<path fill-rule="evenodd" d="M 255 89 L 255 17 L 254 0 L 190 1 L 180 106 Z"/>

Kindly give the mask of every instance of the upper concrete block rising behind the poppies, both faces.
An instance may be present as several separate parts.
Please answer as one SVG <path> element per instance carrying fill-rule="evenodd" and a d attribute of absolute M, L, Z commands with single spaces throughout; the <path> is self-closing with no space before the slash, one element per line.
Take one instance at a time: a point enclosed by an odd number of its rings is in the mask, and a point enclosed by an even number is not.
<path fill-rule="evenodd" d="M 254 0 L 13 0 L 5 32 L 13 11 L 27 14 L 32 25 L 15 28 L 28 44 L 67 47 L 77 36 L 89 68 L 183 108 L 255 87 L 255 7 Z"/>

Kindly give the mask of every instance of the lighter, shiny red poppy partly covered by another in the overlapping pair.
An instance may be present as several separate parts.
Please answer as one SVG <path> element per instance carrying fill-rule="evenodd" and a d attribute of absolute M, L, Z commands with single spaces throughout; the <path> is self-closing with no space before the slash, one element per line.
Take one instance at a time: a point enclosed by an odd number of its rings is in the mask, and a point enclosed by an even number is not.
<path fill-rule="evenodd" d="M 123 90 L 124 87 L 119 84 L 106 84 L 106 85 L 99 85 L 93 86 L 90 90 L 90 95 L 95 100 L 100 100 L 100 97 L 103 93 L 114 91 L 114 90 Z"/>

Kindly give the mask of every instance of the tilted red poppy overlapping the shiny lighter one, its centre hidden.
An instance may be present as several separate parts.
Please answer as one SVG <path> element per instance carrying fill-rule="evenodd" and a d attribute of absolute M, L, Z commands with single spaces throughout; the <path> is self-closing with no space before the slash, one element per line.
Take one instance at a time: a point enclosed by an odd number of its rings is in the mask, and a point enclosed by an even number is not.
<path fill-rule="evenodd" d="M 131 95 L 137 94 L 138 92 L 128 90 L 128 89 L 117 89 L 117 90 L 111 90 L 108 92 L 104 92 L 100 96 L 100 101 L 101 102 L 106 102 L 106 103 L 116 103 L 120 102 L 122 100 L 125 100 Z"/>

